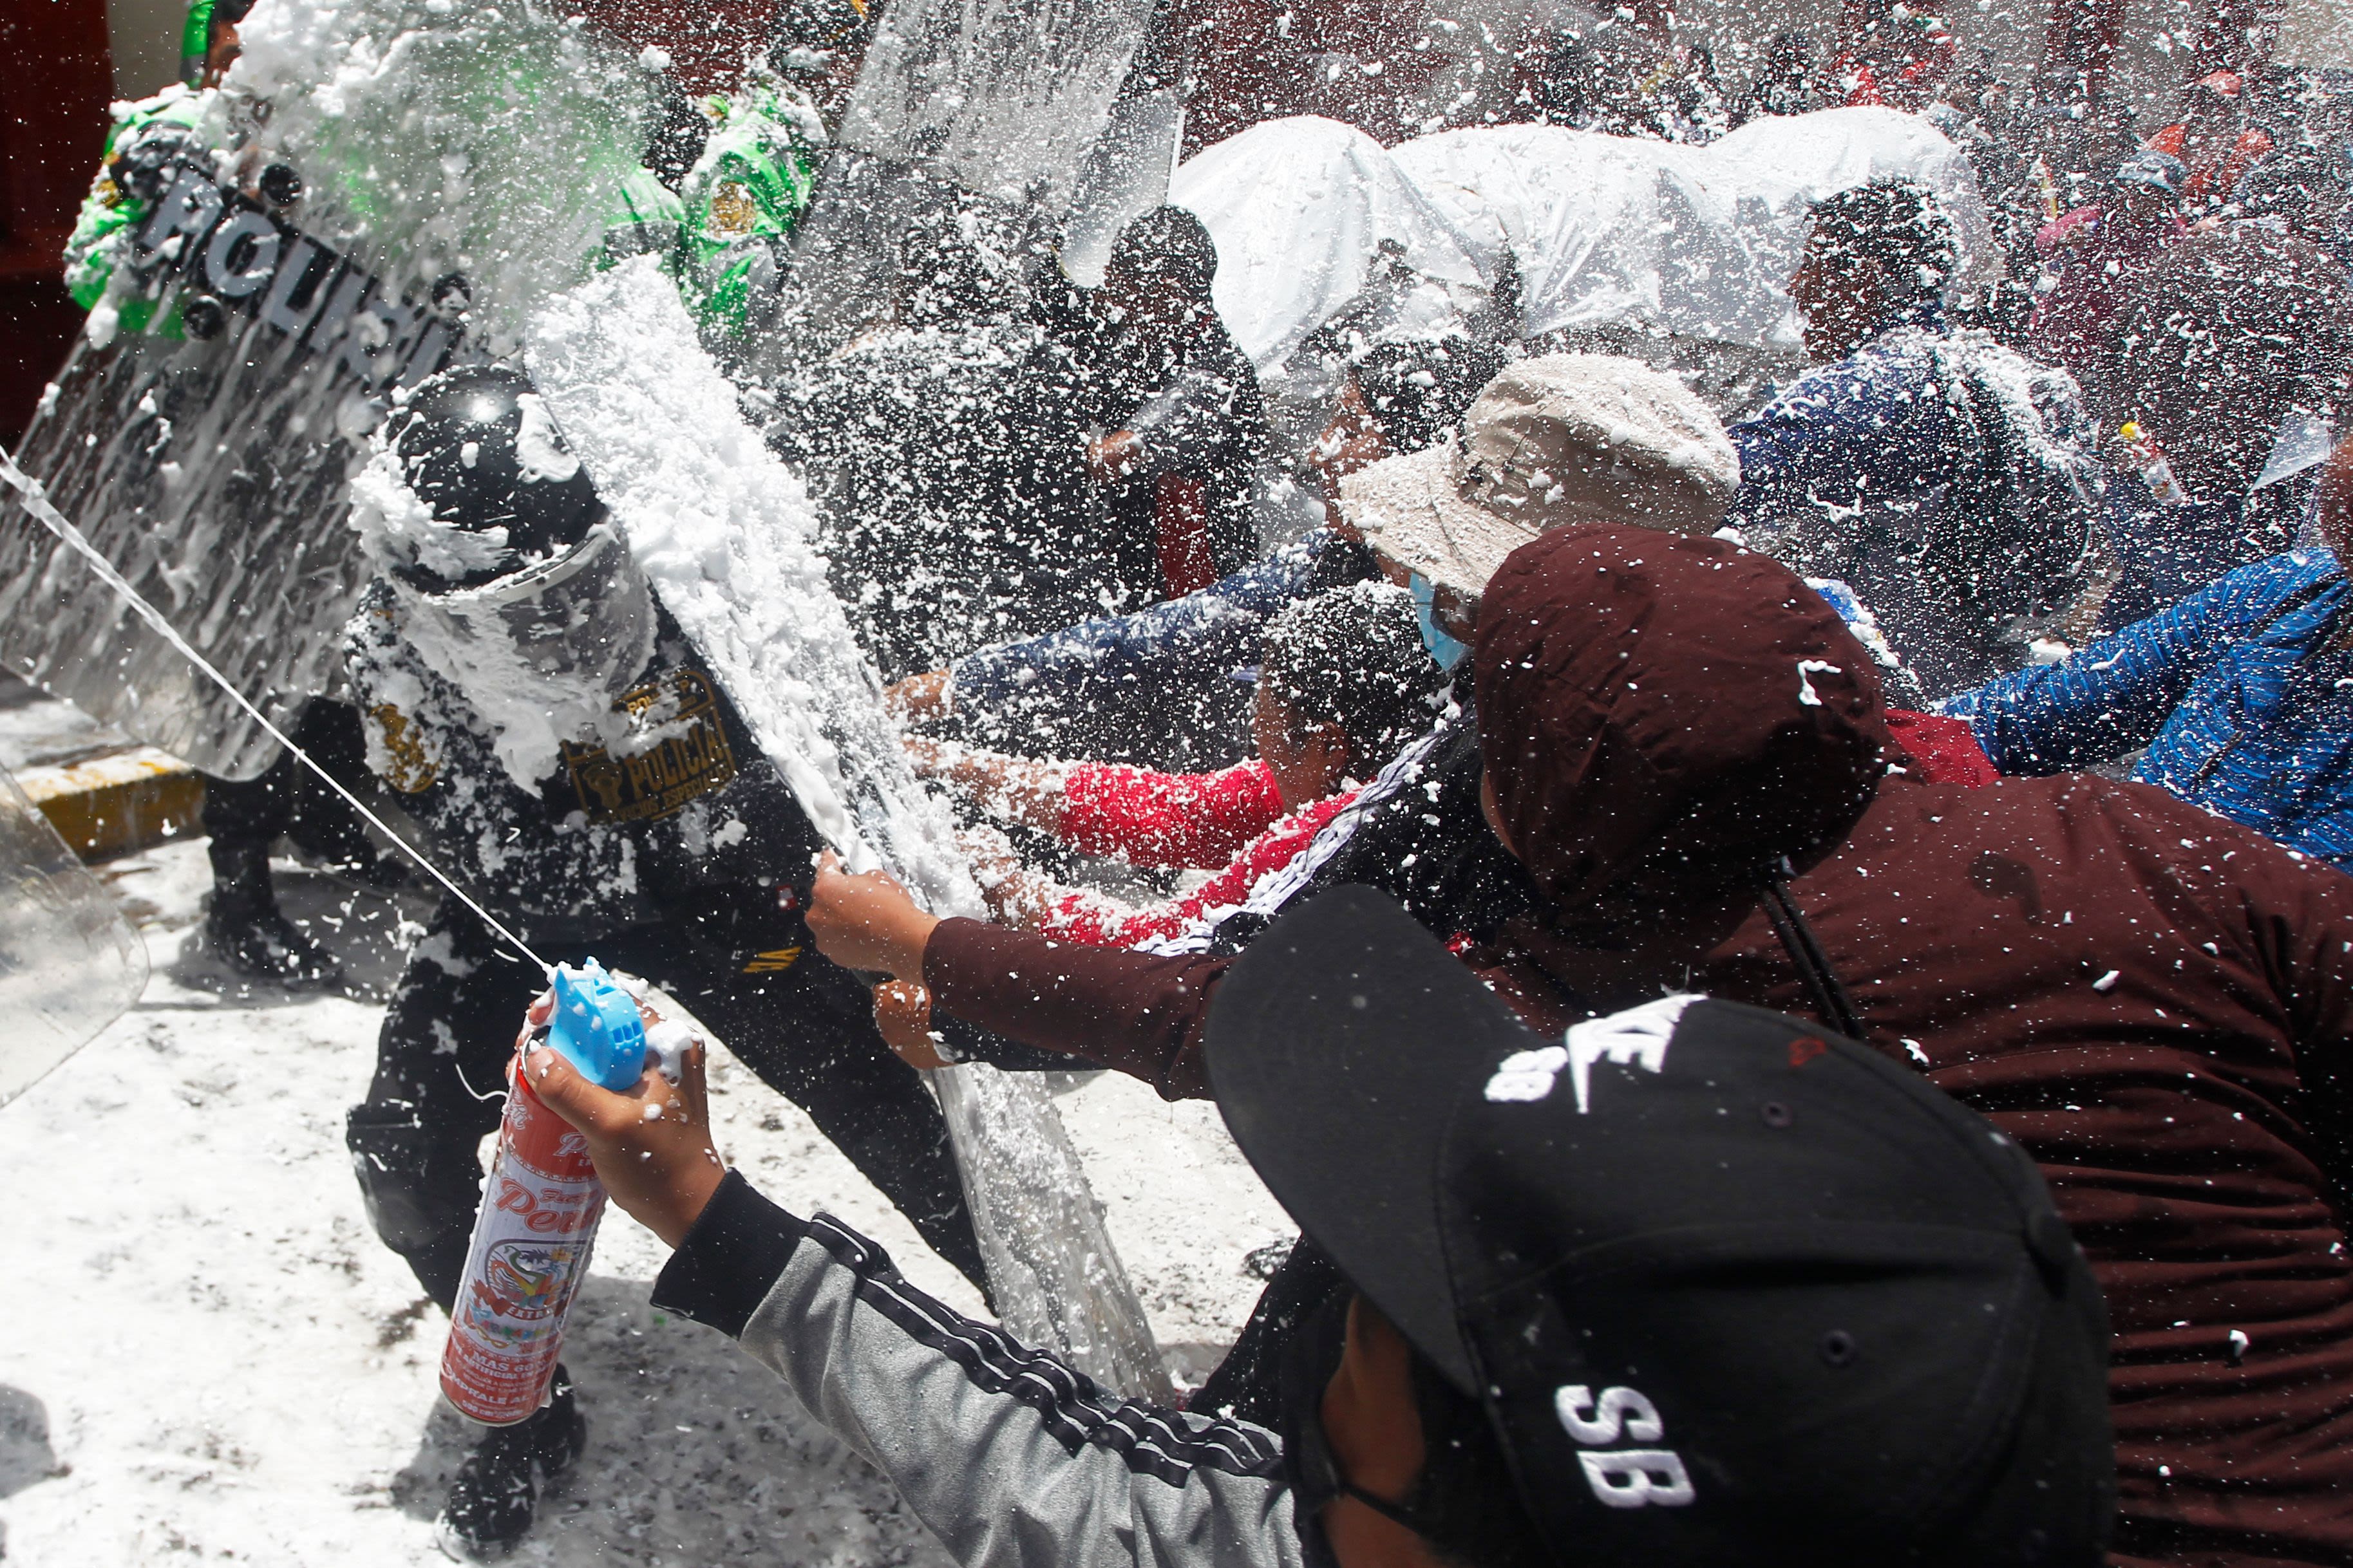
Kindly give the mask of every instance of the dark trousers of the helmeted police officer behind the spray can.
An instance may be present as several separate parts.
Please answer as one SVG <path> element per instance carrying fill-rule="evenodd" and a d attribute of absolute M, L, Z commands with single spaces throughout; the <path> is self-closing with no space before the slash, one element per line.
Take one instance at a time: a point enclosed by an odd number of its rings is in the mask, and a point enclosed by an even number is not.
<path fill-rule="evenodd" d="M 534 945 L 548 961 L 595 957 L 678 997 L 986 1291 L 948 1124 L 875 1032 L 868 990 L 807 940 L 776 969 L 779 950 L 727 952 L 687 931 L 687 922 L 628 926 L 572 947 Z M 367 1103 L 351 1112 L 346 1143 L 367 1218 L 442 1307 L 456 1300 L 480 1204 L 475 1150 L 499 1126 L 515 1032 L 541 990 L 527 959 L 442 900 L 384 1016 Z"/>

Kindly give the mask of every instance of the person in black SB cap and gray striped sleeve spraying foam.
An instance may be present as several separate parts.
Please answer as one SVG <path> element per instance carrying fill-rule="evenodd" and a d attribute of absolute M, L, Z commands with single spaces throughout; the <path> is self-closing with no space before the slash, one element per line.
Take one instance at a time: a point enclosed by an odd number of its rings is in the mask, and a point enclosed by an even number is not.
<path fill-rule="evenodd" d="M 967 1568 L 2099 1561 L 2099 1291 L 2017 1145 L 1901 1065 L 1701 997 L 1551 1044 L 1367 889 L 1235 966 L 1209 1056 L 1337 1260 L 1266 1425 L 1120 1401 L 776 1208 L 699 1048 L 628 1093 L 522 1072 L 678 1248 L 654 1300 Z"/>

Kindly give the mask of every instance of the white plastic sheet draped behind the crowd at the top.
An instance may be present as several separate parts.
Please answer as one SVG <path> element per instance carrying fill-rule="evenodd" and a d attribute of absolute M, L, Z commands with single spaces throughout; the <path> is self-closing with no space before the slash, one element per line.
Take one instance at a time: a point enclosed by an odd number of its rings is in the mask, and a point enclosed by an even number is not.
<path fill-rule="evenodd" d="M 1788 350 L 1807 209 L 1882 174 L 1944 197 L 1965 273 L 1998 263 L 1960 148 L 1892 108 L 1762 118 L 1711 146 L 1499 125 L 1384 150 L 1332 120 L 1268 120 L 1191 158 L 1169 200 L 1209 226 L 1217 308 L 1268 371 L 1365 287 L 1384 240 L 1473 289 L 1508 249 L 1529 336 L 1640 322 Z"/>

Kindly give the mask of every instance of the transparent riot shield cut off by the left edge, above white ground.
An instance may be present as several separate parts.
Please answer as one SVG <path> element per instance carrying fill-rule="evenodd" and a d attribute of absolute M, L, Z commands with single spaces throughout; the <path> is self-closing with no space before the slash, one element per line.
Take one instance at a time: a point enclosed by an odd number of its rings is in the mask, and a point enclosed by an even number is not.
<path fill-rule="evenodd" d="M 0 769 L 0 1105 L 146 990 L 146 943 Z"/>

